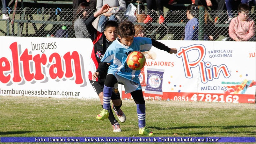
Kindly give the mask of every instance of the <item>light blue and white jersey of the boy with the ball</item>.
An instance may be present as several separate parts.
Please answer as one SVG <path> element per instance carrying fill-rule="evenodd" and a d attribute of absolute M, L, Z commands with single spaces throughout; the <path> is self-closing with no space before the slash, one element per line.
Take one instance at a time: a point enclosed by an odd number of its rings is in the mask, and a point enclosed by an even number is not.
<path fill-rule="evenodd" d="M 111 63 L 108 67 L 108 74 L 119 75 L 135 83 L 140 84 L 140 70 L 132 70 L 128 67 L 126 59 L 129 53 L 133 51 L 149 51 L 152 47 L 150 38 L 134 37 L 130 47 L 123 45 L 117 38 L 107 48 L 101 62 Z"/>

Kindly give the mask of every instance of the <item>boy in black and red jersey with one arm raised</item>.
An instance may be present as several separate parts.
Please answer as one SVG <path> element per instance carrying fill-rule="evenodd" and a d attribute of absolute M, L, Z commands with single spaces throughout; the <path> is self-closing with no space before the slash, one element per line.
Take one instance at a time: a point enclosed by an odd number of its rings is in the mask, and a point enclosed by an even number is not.
<path fill-rule="evenodd" d="M 101 58 L 103 57 L 103 55 L 105 54 L 107 47 L 117 38 L 118 23 L 110 20 L 110 21 L 106 22 L 104 32 L 98 32 L 97 29 L 95 29 L 93 27 L 92 22 L 97 17 L 99 17 L 101 14 L 106 13 L 109 10 L 109 8 L 110 7 L 108 4 L 103 5 L 99 11 L 94 13 L 90 18 L 88 18 L 85 21 L 85 25 L 87 27 L 88 32 L 90 33 L 90 38 L 93 43 L 93 49 L 91 52 L 91 59 L 90 59 L 90 65 L 89 65 L 89 69 L 90 69 L 89 80 L 90 80 L 90 83 L 93 86 L 94 90 L 97 92 L 97 94 L 99 96 L 102 108 L 103 108 L 103 103 L 104 103 L 103 87 L 104 87 L 104 82 L 106 79 L 108 64 L 105 63 L 106 70 L 104 73 L 101 73 L 101 75 L 98 78 L 94 78 L 92 76 L 92 74 L 99 67 L 99 62 L 100 62 Z M 109 14 L 109 13 L 107 13 L 107 14 Z M 113 88 L 112 96 L 113 95 L 116 95 L 116 96 L 113 97 L 113 99 L 111 98 L 111 100 L 113 102 L 112 108 L 113 108 L 115 114 L 117 115 L 118 119 L 120 120 L 120 122 L 125 122 L 126 117 L 125 117 L 125 114 L 120 109 L 120 107 L 122 105 L 122 101 L 121 101 L 120 93 L 119 93 L 117 87 Z M 112 111 L 109 113 L 108 119 L 113 126 L 113 132 L 121 132 L 120 125 L 119 125 L 118 121 L 115 119 Z"/>

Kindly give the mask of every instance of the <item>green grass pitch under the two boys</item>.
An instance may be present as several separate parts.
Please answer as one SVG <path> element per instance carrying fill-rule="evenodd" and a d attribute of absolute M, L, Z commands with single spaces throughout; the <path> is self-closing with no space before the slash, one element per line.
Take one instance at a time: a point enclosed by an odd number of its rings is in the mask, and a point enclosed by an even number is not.
<path fill-rule="evenodd" d="M 97 99 L 0 97 L 0 137 L 139 137 L 136 105 L 123 100 L 121 133 L 97 121 Z M 146 101 L 154 137 L 254 137 L 255 104 Z"/>

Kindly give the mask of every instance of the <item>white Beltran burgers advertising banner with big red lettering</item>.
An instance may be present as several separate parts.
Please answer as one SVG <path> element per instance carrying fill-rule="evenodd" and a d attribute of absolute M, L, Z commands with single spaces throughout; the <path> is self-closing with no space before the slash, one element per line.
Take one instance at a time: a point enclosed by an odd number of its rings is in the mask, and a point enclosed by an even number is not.
<path fill-rule="evenodd" d="M 0 37 L 0 95 L 97 98 L 90 39 Z"/>

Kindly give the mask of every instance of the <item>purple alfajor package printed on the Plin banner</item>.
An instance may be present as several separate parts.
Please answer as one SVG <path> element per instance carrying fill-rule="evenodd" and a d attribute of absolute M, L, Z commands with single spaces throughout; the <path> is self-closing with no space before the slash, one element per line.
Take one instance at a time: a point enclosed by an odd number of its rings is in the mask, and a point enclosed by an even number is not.
<path fill-rule="evenodd" d="M 163 95 L 163 75 L 164 69 L 147 68 L 147 86 L 145 93 L 160 94 Z"/>

